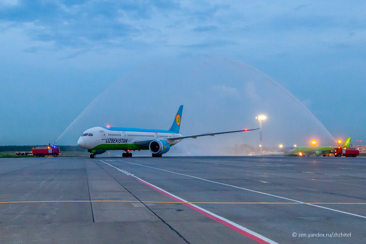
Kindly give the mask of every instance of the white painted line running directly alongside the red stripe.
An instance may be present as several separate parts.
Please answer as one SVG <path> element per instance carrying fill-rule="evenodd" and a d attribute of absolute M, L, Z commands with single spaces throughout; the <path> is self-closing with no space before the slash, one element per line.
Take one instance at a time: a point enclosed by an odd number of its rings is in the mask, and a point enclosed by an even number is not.
<path fill-rule="evenodd" d="M 100 161 L 105 163 L 105 164 L 108 164 L 108 163 L 106 163 L 102 160 L 100 160 Z M 120 161 L 122 161 L 122 160 L 120 160 Z M 126 161 L 124 161 L 124 162 L 126 162 Z M 108 164 L 108 165 L 113 167 L 113 168 L 116 168 L 118 170 L 122 170 L 122 169 L 119 169 L 119 168 L 117 168 L 117 167 L 115 167 L 111 164 Z M 124 170 L 122 170 L 122 171 L 124 171 Z M 203 209 L 202 207 L 194 205 L 193 203 L 189 203 L 188 201 L 184 200 L 183 198 L 177 197 L 176 195 L 173 195 L 170 192 L 165 191 L 160 187 L 157 187 L 153 184 L 150 184 L 149 182 L 146 182 L 145 180 L 140 179 L 137 176 L 134 176 L 132 174 L 128 174 L 128 175 L 136 178 L 139 182 L 142 182 L 142 183 L 146 184 L 147 186 L 150 186 L 150 187 L 154 188 L 155 190 L 157 190 L 159 192 L 162 192 L 164 195 L 167 195 L 168 197 L 171 197 L 171 198 L 175 199 L 178 202 L 184 202 L 183 204 L 190 207 L 191 209 L 194 209 L 194 210 L 198 211 L 199 213 L 202 213 L 203 215 L 205 215 L 209 218 L 212 218 L 213 220 L 216 220 L 220 224 L 223 224 L 223 225 L 235 230 L 236 232 L 239 232 L 240 234 L 242 234 L 244 236 L 247 236 L 247 237 L 249 237 L 250 239 L 252 239 L 254 241 L 257 241 L 258 243 L 261 243 L 261 244 L 278 244 L 277 242 L 272 241 L 272 240 L 268 239 L 267 237 L 262 236 L 262 235 L 258 234 L 257 232 L 254 232 L 253 230 L 247 229 L 244 226 L 236 224 L 235 222 L 232 222 L 232 221 L 230 221 L 230 220 L 228 220 L 224 217 L 221 217 L 217 214 L 214 214 L 214 213 L 212 213 L 212 212 L 210 212 L 206 209 Z"/>

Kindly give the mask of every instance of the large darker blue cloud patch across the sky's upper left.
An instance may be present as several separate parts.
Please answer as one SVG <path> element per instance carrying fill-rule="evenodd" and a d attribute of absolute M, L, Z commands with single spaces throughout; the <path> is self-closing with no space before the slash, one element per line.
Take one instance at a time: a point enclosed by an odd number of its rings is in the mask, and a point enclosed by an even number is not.
<path fill-rule="evenodd" d="M 0 23 L 22 28 L 33 41 L 65 47 L 131 46 L 149 28 L 134 22 L 152 19 L 156 11 L 179 9 L 178 1 L 43 1 L 21 0 L 0 5 Z M 30 49 L 25 49 L 27 52 Z M 34 48 L 32 49 L 35 50 Z"/>

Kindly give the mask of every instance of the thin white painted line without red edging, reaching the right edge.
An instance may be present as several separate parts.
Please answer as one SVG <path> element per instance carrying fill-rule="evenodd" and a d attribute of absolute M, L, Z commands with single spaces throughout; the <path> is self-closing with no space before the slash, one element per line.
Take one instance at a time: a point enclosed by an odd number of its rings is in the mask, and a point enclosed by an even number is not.
<path fill-rule="evenodd" d="M 250 190 L 250 189 L 243 188 L 243 187 L 239 187 L 239 186 L 233 186 L 233 185 L 229 185 L 229 184 L 225 184 L 225 183 L 220 183 L 220 182 L 216 182 L 216 181 L 212 181 L 212 180 L 207 180 L 207 179 L 199 178 L 199 177 L 192 176 L 192 175 L 180 174 L 180 173 L 168 171 L 168 170 L 165 170 L 165 169 L 154 168 L 154 167 L 146 166 L 146 165 L 143 165 L 143 164 L 131 163 L 131 162 L 128 162 L 128 161 L 123 161 L 123 160 L 119 160 L 119 161 L 126 162 L 126 163 L 130 163 L 130 164 L 136 164 L 136 165 L 140 165 L 140 166 L 143 166 L 143 167 L 158 169 L 158 170 L 166 171 L 166 172 L 173 173 L 173 174 L 177 174 L 177 175 L 184 175 L 184 176 L 192 177 L 192 178 L 199 179 L 199 180 L 205 180 L 205 181 L 208 181 L 208 182 L 212 182 L 212 183 L 216 183 L 216 184 L 220 184 L 220 185 L 224 185 L 224 186 L 230 186 L 230 187 L 234 187 L 234 188 L 239 188 L 239 189 L 246 190 L 246 191 L 256 192 L 256 193 L 268 195 L 268 196 L 271 196 L 271 197 L 277 197 L 277 198 L 285 199 L 285 200 L 292 201 L 292 202 L 305 203 L 305 202 L 297 201 L 297 200 L 290 199 L 290 198 L 280 197 L 280 196 L 277 196 L 277 195 L 272 195 L 272 194 L 268 194 L 268 193 L 261 192 L 261 191 L 254 191 L 254 190 Z M 323 207 L 323 206 L 319 206 L 319 205 L 315 205 L 315 204 L 311 204 L 311 203 L 305 203 L 305 204 L 306 205 L 310 205 L 310 206 L 314 206 L 314 207 L 320 207 L 322 209 L 328 209 L 328 210 L 335 211 L 335 212 L 338 212 L 338 213 L 344 213 L 344 214 L 349 214 L 349 215 L 353 215 L 353 216 L 357 216 L 357 217 L 361 217 L 361 218 L 366 218 L 366 216 L 362 216 L 362 215 L 358 215 L 358 214 L 353 214 L 353 213 L 348 213 L 348 212 L 340 211 L 340 210 L 336 210 L 336 209 L 331 209 L 329 207 Z"/>

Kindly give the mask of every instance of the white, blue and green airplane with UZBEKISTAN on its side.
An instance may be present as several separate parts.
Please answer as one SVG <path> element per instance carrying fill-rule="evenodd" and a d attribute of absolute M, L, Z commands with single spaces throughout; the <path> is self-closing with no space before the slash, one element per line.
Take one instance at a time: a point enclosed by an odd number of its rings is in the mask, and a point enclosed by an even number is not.
<path fill-rule="evenodd" d="M 132 157 L 130 150 L 150 150 L 153 157 L 161 157 L 169 151 L 171 146 L 182 141 L 184 138 L 250 131 L 244 129 L 182 136 L 179 134 L 182 111 L 183 105 L 179 107 L 169 130 L 110 127 L 109 125 L 93 127 L 84 131 L 78 140 L 78 146 L 87 149 L 91 159 L 95 159 L 97 154 L 104 153 L 107 150 L 124 150 L 125 152 L 122 153 L 122 157 Z"/>

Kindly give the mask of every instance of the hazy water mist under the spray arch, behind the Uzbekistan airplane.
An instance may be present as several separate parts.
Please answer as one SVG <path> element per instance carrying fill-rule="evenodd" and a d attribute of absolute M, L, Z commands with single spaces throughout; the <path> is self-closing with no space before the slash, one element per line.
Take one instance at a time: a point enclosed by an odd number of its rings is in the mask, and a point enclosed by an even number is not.
<path fill-rule="evenodd" d="M 295 82 L 295 81 L 294 81 Z M 210 84 L 210 85 L 207 85 Z M 263 146 L 335 144 L 319 121 L 289 92 L 259 70 L 222 57 L 164 60 L 141 66 L 96 98 L 57 140 L 75 145 L 94 126 L 169 129 L 183 104 L 183 135 L 259 127 Z M 184 139 L 171 148 L 181 155 L 234 155 L 242 144 L 259 145 L 259 130 Z"/>

